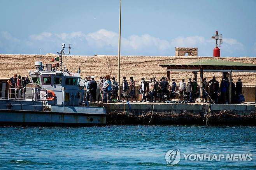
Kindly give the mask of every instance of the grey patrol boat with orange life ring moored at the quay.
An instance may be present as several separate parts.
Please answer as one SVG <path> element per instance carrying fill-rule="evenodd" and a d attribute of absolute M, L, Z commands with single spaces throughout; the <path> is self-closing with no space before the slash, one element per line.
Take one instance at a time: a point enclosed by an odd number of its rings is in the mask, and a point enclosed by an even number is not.
<path fill-rule="evenodd" d="M 68 47 L 70 54 L 70 44 Z M 8 97 L 0 99 L 0 125 L 105 125 L 104 107 L 83 103 L 80 68 L 76 73 L 62 69 L 65 44 L 52 59 L 54 64 L 35 62 L 29 73 L 31 83 L 25 88 L 9 88 Z M 58 67 L 60 65 L 60 70 Z"/>

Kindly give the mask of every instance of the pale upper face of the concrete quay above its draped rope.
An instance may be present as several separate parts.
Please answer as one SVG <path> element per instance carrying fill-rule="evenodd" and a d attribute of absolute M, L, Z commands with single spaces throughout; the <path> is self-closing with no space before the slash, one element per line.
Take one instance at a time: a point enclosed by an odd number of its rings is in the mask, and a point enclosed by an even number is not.
<path fill-rule="evenodd" d="M 204 104 L 170 104 L 170 103 L 90 103 L 90 106 L 101 106 L 106 108 L 107 113 L 129 112 L 134 115 L 142 115 L 154 111 L 154 113 L 180 114 L 180 113 L 203 113 Z M 221 111 L 231 111 L 239 115 L 251 115 L 256 111 L 255 104 L 209 104 L 212 114 L 218 114 Z M 154 110 L 153 110 L 154 108 Z M 209 109 L 208 104 L 205 109 Z"/>

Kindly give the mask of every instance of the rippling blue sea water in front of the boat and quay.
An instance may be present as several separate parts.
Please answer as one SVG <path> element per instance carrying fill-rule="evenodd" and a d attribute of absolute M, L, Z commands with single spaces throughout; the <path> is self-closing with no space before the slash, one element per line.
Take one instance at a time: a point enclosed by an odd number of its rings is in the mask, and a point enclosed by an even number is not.
<path fill-rule="evenodd" d="M 165 153 L 252 154 L 251 161 L 181 161 Z M 3 169 L 256 169 L 256 127 L 0 127 Z"/>

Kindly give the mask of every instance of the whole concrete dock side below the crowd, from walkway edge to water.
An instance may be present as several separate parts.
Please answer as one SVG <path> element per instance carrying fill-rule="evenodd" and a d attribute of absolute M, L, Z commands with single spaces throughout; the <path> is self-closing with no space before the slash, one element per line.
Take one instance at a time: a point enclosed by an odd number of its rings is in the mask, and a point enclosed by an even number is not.
<path fill-rule="evenodd" d="M 106 108 L 107 125 L 256 125 L 256 105 L 254 103 L 171 104 L 133 102 L 91 103 L 90 106 Z"/>

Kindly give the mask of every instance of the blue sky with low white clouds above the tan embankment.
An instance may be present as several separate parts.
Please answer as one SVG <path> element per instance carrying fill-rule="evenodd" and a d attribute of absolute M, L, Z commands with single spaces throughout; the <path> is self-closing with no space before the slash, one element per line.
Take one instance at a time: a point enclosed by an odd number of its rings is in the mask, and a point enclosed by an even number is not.
<path fill-rule="evenodd" d="M 0 54 L 117 55 L 119 0 L 0 0 Z M 255 0 L 122 0 L 121 55 L 174 56 L 198 47 L 212 56 L 256 57 Z"/>

